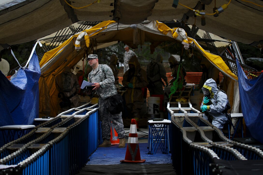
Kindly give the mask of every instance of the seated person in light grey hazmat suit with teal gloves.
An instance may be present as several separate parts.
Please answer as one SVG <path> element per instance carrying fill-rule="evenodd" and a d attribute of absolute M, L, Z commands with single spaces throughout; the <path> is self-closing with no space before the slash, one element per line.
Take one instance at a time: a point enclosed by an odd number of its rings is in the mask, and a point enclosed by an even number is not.
<path fill-rule="evenodd" d="M 200 108 L 204 112 L 203 117 L 222 131 L 224 123 L 228 120 L 227 110 L 230 109 L 227 95 L 218 90 L 215 80 L 211 78 L 206 80 L 202 91 L 204 97 Z"/>

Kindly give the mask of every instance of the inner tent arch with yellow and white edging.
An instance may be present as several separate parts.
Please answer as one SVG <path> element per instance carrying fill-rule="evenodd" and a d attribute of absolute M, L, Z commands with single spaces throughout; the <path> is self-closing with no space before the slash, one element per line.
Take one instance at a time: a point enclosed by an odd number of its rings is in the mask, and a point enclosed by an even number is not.
<path fill-rule="evenodd" d="M 104 21 L 73 35 L 57 48 L 44 54 L 40 62 L 40 116 L 48 115 L 49 112 L 50 116 L 55 116 L 58 111 L 59 99 L 54 77 L 61 73 L 66 66 L 73 68 L 83 58 L 86 48 L 95 45 L 100 47 L 105 43 L 114 41 L 122 41 L 131 47 L 141 45 L 144 42 L 158 45 L 163 41 L 174 41 L 182 43 L 184 48 L 188 49 L 189 45 L 194 44 L 195 48 L 216 68 L 231 79 L 237 80 L 237 76 L 230 71 L 220 56 L 205 51 L 193 38 L 188 37 L 181 28 L 171 29 L 158 21 L 144 21 L 133 25 L 118 24 L 113 20 Z"/>

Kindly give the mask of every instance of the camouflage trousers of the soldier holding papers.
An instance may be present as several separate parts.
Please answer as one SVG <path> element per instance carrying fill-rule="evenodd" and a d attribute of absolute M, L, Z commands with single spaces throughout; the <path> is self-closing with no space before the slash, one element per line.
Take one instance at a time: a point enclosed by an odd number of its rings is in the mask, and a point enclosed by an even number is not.
<path fill-rule="evenodd" d="M 113 124 L 114 129 L 118 133 L 119 138 L 124 138 L 124 126 L 122 120 L 122 112 L 118 114 L 110 114 L 109 112 L 110 101 L 109 99 L 102 99 L 99 97 L 99 115 L 100 120 L 102 121 L 102 139 L 110 140 L 110 127 L 111 122 Z"/>

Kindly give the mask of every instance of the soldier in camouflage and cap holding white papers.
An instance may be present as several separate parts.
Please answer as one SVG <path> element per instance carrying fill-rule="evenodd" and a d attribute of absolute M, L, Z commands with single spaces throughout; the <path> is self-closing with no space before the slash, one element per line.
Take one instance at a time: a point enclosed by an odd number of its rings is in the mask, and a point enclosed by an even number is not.
<path fill-rule="evenodd" d="M 102 138 L 103 143 L 99 147 L 111 146 L 110 142 L 110 127 L 111 122 L 118 137 L 120 139 L 119 148 L 125 147 L 124 126 L 122 120 L 122 112 L 118 114 L 110 114 L 108 108 L 110 106 L 109 97 L 117 94 L 117 88 L 114 85 L 114 75 L 112 69 L 108 65 L 99 64 L 98 55 L 90 54 L 88 56 L 89 65 L 93 70 L 89 73 L 89 82 L 95 85 L 92 90 L 95 90 L 99 95 L 99 114 L 102 121 Z M 91 94 L 89 91 L 88 94 Z"/>

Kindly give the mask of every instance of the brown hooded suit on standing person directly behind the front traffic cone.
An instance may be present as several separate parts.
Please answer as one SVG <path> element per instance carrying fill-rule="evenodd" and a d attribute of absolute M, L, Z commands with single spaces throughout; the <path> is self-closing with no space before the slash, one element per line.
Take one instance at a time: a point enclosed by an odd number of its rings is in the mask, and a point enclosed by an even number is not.
<path fill-rule="evenodd" d="M 140 117 L 140 111 L 143 107 L 141 88 L 148 85 L 146 71 L 141 69 L 136 56 L 131 57 L 129 64 L 133 64 L 135 69 L 129 69 L 123 75 L 122 85 L 129 87 L 124 95 L 126 106 L 131 111 L 133 117 Z"/>

